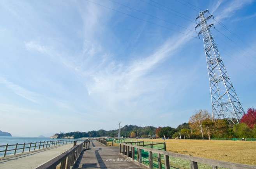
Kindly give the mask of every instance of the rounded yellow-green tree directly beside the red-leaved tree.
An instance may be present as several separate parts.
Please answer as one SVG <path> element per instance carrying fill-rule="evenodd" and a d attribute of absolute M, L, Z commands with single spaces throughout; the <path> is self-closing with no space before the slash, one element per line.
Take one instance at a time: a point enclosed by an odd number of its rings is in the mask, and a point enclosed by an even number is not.
<path fill-rule="evenodd" d="M 251 138 L 252 130 L 245 123 L 233 125 L 233 131 L 238 138 Z"/>

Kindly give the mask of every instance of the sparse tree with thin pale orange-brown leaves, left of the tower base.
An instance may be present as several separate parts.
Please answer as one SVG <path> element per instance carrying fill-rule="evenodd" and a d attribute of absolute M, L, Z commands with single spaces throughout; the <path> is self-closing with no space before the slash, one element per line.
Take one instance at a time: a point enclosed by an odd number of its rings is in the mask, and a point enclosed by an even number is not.
<path fill-rule="evenodd" d="M 197 133 L 201 133 L 202 138 L 203 138 L 203 121 L 205 121 L 207 118 L 208 119 L 211 118 L 211 115 L 207 110 L 196 111 L 196 114 L 192 115 L 189 118 L 189 127 L 195 130 Z"/>

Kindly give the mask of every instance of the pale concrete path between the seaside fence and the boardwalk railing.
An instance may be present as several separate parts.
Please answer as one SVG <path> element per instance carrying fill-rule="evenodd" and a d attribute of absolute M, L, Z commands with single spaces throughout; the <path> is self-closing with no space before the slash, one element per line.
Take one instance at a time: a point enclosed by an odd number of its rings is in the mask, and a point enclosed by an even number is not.
<path fill-rule="evenodd" d="M 32 169 L 69 150 L 72 146 L 73 143 L 0 157 L 0 169 Z"/>

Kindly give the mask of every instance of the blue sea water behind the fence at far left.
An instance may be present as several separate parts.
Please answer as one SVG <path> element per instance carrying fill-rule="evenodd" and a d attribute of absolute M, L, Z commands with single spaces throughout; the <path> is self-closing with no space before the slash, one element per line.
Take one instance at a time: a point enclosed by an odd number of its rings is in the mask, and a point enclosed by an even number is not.
<path fill-rule="evenodd" d="M 24 143 L 35 143 L 37 142 L 37 146 L 39 145 L 39 142 L 47 142 L 47 141 L 54 141 L 54 140 L 67 140 L 67 141 L 73 141 L 74 139 L 51 139 L 51 138 L 41 138 L 41 137 L 8 137 L 8 136 L 0 136 L 0 151 L 5 150 L 5 146 L 8 143 L 9 145 L 16 145 L 18 144 L 24 144 Z M 4 146 L 2 146 L 4 145 Z M 32 144 L 31 146 L 34 146 L 35 144 Z M 28 147 L 29 145 L 26 145 L 25 147 Z M 15 146 L 8 146 L 8 150 L 14 149 Z M 23 148 L 23 145 L 19 145 L 18 148 Z M 37 147 L 36 149 L 38 149 Z M 42 145 L 41 145 L 42 148 Z M 31 150 L 34 150 L 34 147 L 31 148 Z M 28 148 L 25 149 L 24 152 L 27 152 Z M 21 153 L 22 150 L 17 150 L 17 153 Z M 14 151 L 8 151 L 6 155 L 13 154 Z M 4 152 L 0 152 L 0 157 L 3 157 Z"/>

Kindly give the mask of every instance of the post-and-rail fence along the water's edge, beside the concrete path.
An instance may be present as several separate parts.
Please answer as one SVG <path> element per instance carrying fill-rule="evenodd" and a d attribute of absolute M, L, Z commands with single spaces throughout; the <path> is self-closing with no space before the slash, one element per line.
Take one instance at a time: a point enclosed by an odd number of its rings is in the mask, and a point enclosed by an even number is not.
<path fill-rule="evenodd" d="M 4 150 L 0 151 L 0 153 L 4 152 L 3 157 L 6 156 L 7 152 L 13 151 L 14 155 L 17 153 L 17 150 L 21 150 L 19 152 L 24 153 L 30 152 L 31 150 L 40 150 L 42 148 L 47 148 L 51 146 L 56 146 L 56 145 L 64 145 L 64 144 L 70 144 L 74 143 L 74 141 L 85 141 L 85 139 L 63 139 L 63 140 L 51 140 L 51 141 L 40 141 L 40 142 L 35 142 L 35 143 L 22 143 L 18 144 L 16 143 L 15 145 L 9 145 L 8 143 L 6 145 L 0 145 L 0 147 L 5 147 Z"/>

